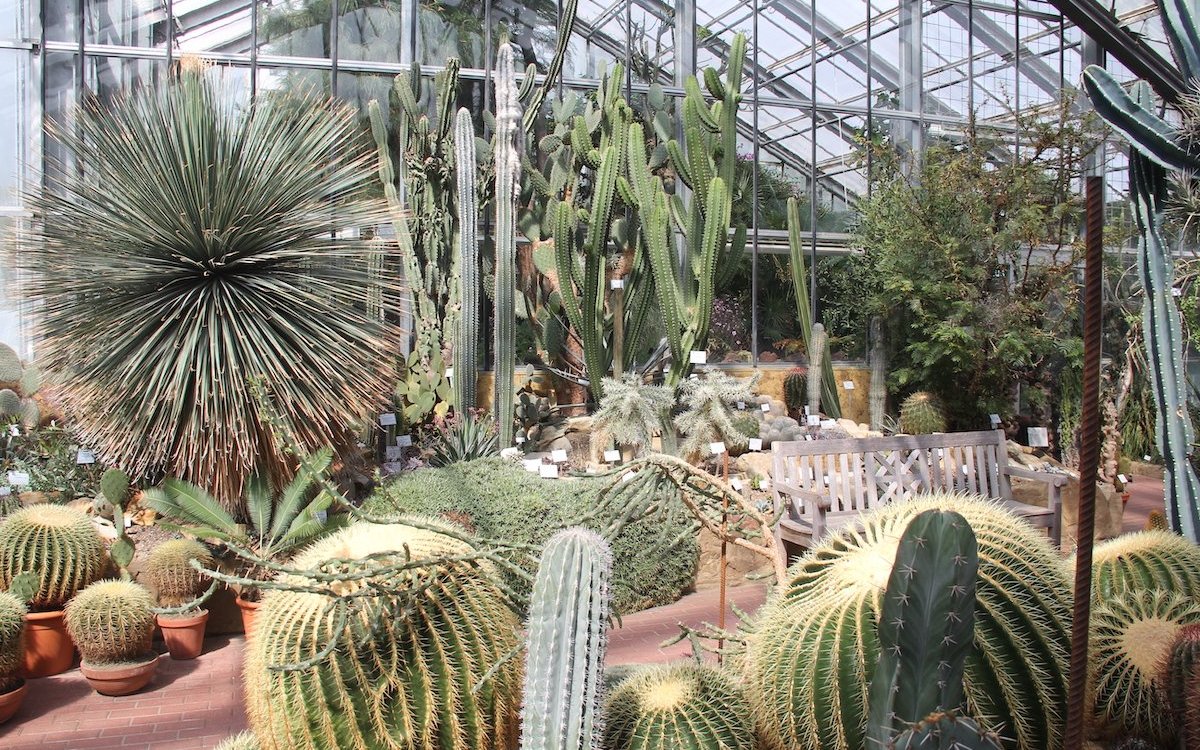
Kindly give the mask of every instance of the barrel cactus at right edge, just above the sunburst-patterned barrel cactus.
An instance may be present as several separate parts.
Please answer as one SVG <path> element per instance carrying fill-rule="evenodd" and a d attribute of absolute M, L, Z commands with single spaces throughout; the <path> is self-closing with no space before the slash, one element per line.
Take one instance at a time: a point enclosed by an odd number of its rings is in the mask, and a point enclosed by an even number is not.
<path fill-rule="evenodd" d="M 1200 547 L 1171 532 L 1122 534 L 1096 545 L 1092 593 L 1098 601 L 1153 588 L 1200 600 Z"/>

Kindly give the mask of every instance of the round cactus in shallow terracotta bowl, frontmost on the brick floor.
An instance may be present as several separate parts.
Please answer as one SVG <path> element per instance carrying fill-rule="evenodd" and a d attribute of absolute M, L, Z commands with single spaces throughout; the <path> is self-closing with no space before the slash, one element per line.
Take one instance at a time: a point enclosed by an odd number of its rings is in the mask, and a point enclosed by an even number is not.
<path fill-rule="evenodd" d="M 154 595 L 132 581 L 97 581 L 67 602 L 66 623 L 79 647 L 79 671 L 101 695 L 130 695 L 158 668 Z"/>

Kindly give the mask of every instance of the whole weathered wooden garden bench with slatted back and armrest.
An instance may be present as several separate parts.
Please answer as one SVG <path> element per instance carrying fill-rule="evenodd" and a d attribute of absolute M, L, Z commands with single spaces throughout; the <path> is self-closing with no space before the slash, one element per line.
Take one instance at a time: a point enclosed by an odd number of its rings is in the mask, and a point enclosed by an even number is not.
<path fill-rule="evenodd" d="M 1009 466 L 1003 431 L 948 432 L 774 443 L 772 492 L 782 542 L 811 547 L 858 515 L 929 492 L 970 492 L 998 500 L 1030 523 L 1062 532 L 1066 474 Z M 1046 508 L 1013 499 L 1009 479 L 1046 484 Z M 782 545 L 781 545 L 782 546 Z M 785 547 L 786 548 L 786 547 Z"/>

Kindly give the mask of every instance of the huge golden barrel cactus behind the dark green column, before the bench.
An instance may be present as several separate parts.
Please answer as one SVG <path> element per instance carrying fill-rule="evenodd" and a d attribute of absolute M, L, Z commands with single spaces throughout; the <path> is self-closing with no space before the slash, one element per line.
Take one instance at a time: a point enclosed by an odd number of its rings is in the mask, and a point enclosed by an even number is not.
<path fill-rule="evenodd" d="M 974 644 L 966 708 L 1010 749 L 1062 746 L 1070 582 L 1049 541 L 994 503 L 932 494 L 865 515 L 862 528 L 788 570 L 749 637 L 746 690 L 772 750 L 864 746 L 878 618 L 899 540 L 924 510 L 962 515 L 978 542 Z"/>

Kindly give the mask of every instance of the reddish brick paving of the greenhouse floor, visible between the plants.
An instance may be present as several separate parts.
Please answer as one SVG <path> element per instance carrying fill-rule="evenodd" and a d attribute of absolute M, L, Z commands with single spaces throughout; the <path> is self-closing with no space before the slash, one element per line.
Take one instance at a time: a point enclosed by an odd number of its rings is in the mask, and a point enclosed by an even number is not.
<path fill-rule="evenodd" d="M 1130 485 L 1126 530 L 1140 529 L 1152 508 L 1162 508 L 1162 481 L 1138 478 Z M 733 608 L 754 612 L 763 601 L 761 584 L 730 588 L 727 626 L 737 624 Z M 679 632 L 679 624 L 715 624 L 715 589 L 684 596 L 673 605 L 624 618 L 610 635 L 610 665 L 653 664 L 679 659 L 690 646 L 661 643 Z M 192 750 L 211 748 L 246 728 L 241 700 L 240 636 L 205 642 L 194 661 L 163 656 L 154 683 L 120 698 L 97 695 L 78 670 L 29 680 L 20 712 L 0 726 L 2 750 Z"/>

